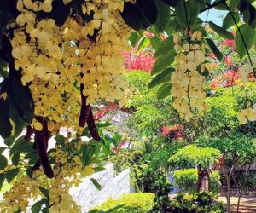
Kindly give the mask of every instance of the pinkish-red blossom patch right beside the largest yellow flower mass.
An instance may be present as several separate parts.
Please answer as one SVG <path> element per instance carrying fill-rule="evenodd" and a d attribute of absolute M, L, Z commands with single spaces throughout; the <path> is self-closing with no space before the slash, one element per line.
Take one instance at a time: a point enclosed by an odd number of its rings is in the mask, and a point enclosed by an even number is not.
<path fill-rule="evenodd" d="M 125 56 L 125 69 L 128 71 L 142 70 L 151 72 L 154 66 L 154 56 L 148 53 L 147 50 L 141 51 L 139 54 L 132 54 L 129 52 L 124 53 Z"/>

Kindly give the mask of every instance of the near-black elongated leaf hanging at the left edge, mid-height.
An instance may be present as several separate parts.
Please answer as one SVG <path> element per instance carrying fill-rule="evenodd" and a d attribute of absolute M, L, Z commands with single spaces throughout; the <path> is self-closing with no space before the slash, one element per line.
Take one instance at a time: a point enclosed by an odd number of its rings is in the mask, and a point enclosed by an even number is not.
<path fill-rule="evenodd" d="M 12 125 L 9 119 L 9 105 L 3 98 L 0 99 L 0 135 L 5 139 L 9 138 L 12 132 Z"/>

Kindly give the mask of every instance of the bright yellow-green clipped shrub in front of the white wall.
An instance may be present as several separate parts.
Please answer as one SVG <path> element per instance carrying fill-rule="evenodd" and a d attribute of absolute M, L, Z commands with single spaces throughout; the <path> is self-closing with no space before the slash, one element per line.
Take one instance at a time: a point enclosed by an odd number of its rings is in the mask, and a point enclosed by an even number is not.
<path fill-rule="evenodd" d="M 124 205 L 122 205 L 124 204 Z M 129 193 L 123 195 L 120 199 L 108 199 L 106 202 L 96 207 L 95 211 L 104 212 L 113 209 L 115 206 L 121 206 L 114 212 L 124 213 L 147 213 L 154 207 L 154 193 Z"/>

